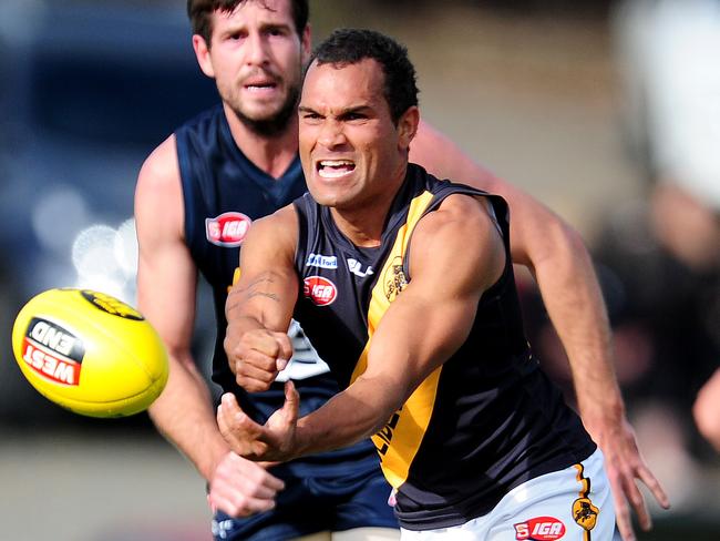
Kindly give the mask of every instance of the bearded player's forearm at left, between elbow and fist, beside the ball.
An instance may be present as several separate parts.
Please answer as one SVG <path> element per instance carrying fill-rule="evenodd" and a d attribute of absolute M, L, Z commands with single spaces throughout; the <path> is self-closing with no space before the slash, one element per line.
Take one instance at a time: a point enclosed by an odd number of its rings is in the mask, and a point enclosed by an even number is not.
<path fill-rule="evenodd" d="M 217 428 L 209 390 L 202 375 L 171 360 L 167 385 L 148 414 L 163 436 L 209 481 L 229 448 Z"/>

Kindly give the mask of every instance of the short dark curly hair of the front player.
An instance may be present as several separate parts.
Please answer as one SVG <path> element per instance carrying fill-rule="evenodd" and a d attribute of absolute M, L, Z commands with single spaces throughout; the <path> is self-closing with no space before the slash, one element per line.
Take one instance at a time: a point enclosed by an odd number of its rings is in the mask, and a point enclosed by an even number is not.
<path fill-rule="evenodd" d="M 321 64 L 357 64 L 364 59 L 376 60 L 385 75 L 383 94 L 390 105 L 393 122 L 413 105 L 418 105 L 415 68 L 408 58 L 408 49 L 392 38 L 374 30 L 339 29 L 332 32 L 312 53 Z"/>

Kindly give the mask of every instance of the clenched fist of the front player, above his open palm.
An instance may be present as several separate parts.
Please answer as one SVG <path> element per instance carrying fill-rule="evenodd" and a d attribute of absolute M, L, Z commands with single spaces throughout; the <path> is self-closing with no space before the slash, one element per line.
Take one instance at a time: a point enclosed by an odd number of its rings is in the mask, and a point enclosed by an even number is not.
<path fill-rule="evenodd" d="M 292 357 L 287 334 L 254 329 L 235 337 L 228 328 L 225 350 L 237 385 L 248 392 L 270 388 L 278 372 Z"/>

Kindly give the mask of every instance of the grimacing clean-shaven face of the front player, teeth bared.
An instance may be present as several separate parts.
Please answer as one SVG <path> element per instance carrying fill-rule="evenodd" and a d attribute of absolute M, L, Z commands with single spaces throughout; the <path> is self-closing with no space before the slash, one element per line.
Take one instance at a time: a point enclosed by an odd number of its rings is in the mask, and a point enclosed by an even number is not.
<path fill-rule="evenodd" d="M 357 212 L 392 197 L 391 186 L 404 178 L 418 110 L 410 108 L 395 125 L 383 84 L 373 59 L 308 69 L 298 111 L 300 159 L 318 203 Z"/>

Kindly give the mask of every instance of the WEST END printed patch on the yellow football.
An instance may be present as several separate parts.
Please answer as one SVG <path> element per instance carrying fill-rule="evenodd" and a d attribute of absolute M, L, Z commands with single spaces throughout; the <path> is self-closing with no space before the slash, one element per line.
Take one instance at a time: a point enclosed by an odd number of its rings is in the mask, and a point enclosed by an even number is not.
<path fill-rule="evenodd" d="M 85 347 L 80 338 L 61 326 L 33 317 L 22 344 L 22 359 L 41 377 L 61 385 L 76 386 Z"/>

